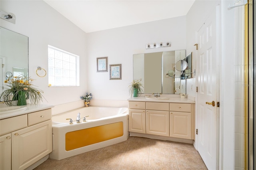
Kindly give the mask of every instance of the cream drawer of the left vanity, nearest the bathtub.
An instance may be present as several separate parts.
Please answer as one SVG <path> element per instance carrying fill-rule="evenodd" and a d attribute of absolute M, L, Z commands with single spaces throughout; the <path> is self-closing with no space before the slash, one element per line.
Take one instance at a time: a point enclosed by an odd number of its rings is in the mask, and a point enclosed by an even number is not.
<path fill-rule="evenodd" d="M 52 119 L 52 109 L 28 114 L 28 126 Z"/>

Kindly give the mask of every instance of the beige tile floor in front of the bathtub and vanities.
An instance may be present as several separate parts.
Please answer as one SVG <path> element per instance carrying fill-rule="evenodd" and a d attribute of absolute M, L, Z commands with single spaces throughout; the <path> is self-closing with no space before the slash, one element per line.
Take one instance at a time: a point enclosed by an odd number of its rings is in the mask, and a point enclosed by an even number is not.
<path fill-rule="evenodd" d="M 62 160 L 48 159 L 34 170 L 207 170 L 192 144 L 129 137 L 128 140 Z"/>

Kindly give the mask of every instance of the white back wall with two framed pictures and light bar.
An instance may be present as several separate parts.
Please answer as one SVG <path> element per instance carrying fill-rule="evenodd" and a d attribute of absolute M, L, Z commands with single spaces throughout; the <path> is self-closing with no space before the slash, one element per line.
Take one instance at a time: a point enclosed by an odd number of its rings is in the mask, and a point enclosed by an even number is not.
<path fill-rule="evenodd" d="M 186 48 L 186 17 L 176 17 L 111 30 L 89 33 L 88 89 L 94 99 L 127 100 L 133 80 L 132 56 L 138 53 Z M 148 43 L 171 42 L 171 47 L 146 49 Z M 109 72 L 96 72 L 96 58 L 108 57 L 108 64 L 122 64 L 122 80 L 109 80 Z"/>

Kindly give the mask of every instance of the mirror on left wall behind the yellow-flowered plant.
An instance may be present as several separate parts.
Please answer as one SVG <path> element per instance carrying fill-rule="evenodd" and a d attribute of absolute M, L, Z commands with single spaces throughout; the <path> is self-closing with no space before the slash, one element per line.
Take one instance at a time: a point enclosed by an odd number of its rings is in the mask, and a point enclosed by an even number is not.
<path fill-rule="evenodd" d="M 0 93 L 6 79 L 28 77 L 28 37 L 0 27 L 0 65 Z"/>

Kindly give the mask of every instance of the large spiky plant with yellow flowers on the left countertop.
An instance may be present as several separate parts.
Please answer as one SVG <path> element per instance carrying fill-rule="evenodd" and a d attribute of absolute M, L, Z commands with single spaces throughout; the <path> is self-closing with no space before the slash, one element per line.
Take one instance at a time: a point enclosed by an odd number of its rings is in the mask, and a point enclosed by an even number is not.
<path fill-rule="evenodd" d="M 17 100 L 17 105 L 26 105 L 26 99 L 30 100 L 30 103 L 38 104 L 42 101 L 42 93 L 40 89 L 36 89 L 32 86 L 33 79 L 28 77 L 14 77 L 13 79 L 7 79 L 4 81 L 8 89 L 4 90 L 0 95 L 0 101 L 4 101 L 6 105 L 12 106 L 13 101 Z"/>

